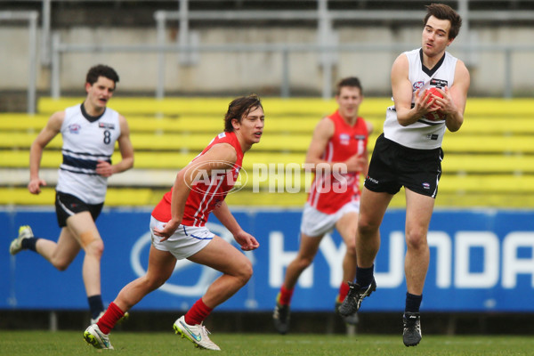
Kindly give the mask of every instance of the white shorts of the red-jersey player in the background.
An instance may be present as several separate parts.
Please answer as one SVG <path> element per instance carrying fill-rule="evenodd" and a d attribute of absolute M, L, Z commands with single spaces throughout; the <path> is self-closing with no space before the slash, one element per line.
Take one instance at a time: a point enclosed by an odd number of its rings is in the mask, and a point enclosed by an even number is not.
<path fill-rule="evenodd" d="M 334 214 L 321 213 L 308 202 L 304 205 L 301 232 L 311 238 L 322 237 L 332 232 L 344 214 L 360 213 L 360 201 L 350 201 Z"/>

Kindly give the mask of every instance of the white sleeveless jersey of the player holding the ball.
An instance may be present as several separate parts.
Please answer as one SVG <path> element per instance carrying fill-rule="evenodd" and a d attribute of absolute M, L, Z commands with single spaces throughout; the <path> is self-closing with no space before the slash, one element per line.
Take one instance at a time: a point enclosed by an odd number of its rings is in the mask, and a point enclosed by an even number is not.
<path fill-rule="evenodd" d="M 433 69 L 423 66 L 423 51 L 421 48 L 403 53 L 409 61 L 409 81 L 412 84 L 412 107 L 415 102 L 415 93 L 421 89 L 438 87 L 443 89 L 445 85 L 452 86 L 456 70 L 457 58 L 449 53 L 441 58 Z M 445 120 L 431 121 L 421 117 L 412 125 L 402 126 L 397 121 L 395 106 L 387 109 L 384 121 L 384 137 L 417 150 L 433 150 L 441 147 L 443 134 L 445 134 Z"/>

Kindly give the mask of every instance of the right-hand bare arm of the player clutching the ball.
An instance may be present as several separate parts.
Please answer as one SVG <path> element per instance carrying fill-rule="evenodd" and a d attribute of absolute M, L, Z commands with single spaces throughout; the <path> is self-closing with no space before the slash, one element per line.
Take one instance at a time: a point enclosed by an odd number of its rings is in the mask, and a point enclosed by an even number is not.
<path fill-rule="evenodd" d="M 464 123 L 465 103 L 467 101 L 467 91 L 471 84 L 469 70 L 465 67 L 463 61 L 457 61 L 454 74 L 454 84 L 450 88 L 445 88 L 441 104 L 441 111 L 447 114 L 445 125 L 450 132 L 460 129 Z"/>

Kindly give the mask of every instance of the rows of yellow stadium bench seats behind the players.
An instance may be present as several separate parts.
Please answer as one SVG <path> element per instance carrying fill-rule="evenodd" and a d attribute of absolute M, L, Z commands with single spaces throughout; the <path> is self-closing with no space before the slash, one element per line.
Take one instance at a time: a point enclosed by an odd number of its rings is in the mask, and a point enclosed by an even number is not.
<path fill-rule="evenodd" d="M 215 134 L 223 131 L 223 115 L 232 98 L 165 98 L 120 97 L 109 102 L 128 121 L 135 150 L 136 169 L 154 172 L 178 171 L 203 150 Z M 54 111 L 79 105 L 84 98 L 40 98 L 38 114 L 0 114 L 0 169 L 28 169 L 29 147 Z M 366 98 L 360 116 L 373 126 L 368 150 L 374 148 L 376 136 L 382 133 L 385 110 L 391 98 Z M 266 169 L 302 168 L 312 133 L 324 117 L 336 109 L 334 99 L 263 98 L 265 128 L 262 140 L 244 159 L 242 178 L 247 183 L 229 194 L 231 205 L 302 207 L 310 177 L 279 173 L 275 184 L 250 181 Z M 447 133 L 443 140 L 442 162 L 436 206 L 534 206 L 534 100 L 470 98 L 465 109 L 465 122 L 457 133 Z M 119 152 L 112 160 L 120 160 Z M 43 169 L 57 169 L 61 164 L 61 136 L 46 150 Z M 291 164 L 291 165 L 289 165 Z M 281 166 L 278 166 L 281 165 Z M 288 171 L 289 172 L 289 171 Z M 301 174 L 303 174 L 301 169 Z M 287 180 L 287 182 L 286 182 Z M 27 182 L 0 186 L 2 205 L 53 205 L 53 187 L 38 196 L 26 190 Z M 282 190 L 278 192 L 278 183 Z M 151 182 L 139 188 L 109 187 L 106 206 L 154 205 L 168 189 L 153 187 Z M 271 184 L 271 185 L 270 185 Z M 299 188 L 298 193 L 284 191 Z M 253 189 L 258 191 L 254 191 Z M 271 192 L 269 191 L 271 190 Z M 273 191 L 274 190 L 274 191 Z M 392 206 L 403 206 L 403 194 L 392 200 Z"/>

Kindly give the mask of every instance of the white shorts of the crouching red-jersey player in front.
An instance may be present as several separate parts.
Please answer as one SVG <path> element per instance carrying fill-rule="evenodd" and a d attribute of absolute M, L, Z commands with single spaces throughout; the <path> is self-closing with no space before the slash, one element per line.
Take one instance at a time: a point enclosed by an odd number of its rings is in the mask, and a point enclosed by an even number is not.
<path fill-rule="evenodd" d="M 163 229 L 162 223 L 154 216 L 150 216 L 150 232 L 152 234 L 152 245 L 159 251 L 167 251 L 176 257 L 177 260 L 195 255 L 202 248 L 206 247 L 214 239 L 214 233 L 207 230 L 205 226 L 193 227 L 180 225 L 174 231 L 173 236 L 161 242 L 161 237 L 154 235 L 154 228 Z"/>

